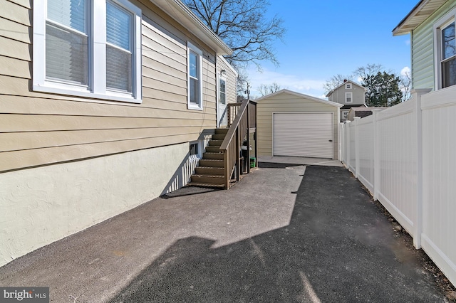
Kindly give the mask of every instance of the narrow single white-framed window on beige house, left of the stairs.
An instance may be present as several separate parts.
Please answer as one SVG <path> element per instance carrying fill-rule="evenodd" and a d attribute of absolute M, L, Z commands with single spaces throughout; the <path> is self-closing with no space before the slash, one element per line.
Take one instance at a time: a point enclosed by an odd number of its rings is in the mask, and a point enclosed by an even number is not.
<path fill-rule="evenodd" d="M 188 108 L 202 110 L 202 51 L 189 42 L 187 54 Z"/>

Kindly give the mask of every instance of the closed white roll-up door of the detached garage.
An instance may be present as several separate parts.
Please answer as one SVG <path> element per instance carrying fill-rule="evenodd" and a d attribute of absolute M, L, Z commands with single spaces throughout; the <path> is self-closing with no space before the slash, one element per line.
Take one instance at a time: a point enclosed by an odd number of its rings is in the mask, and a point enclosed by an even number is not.
<path fill-rule="evenodd" d="M 333 159 L 333 113 L 274 113 L 274 156 Z"/>

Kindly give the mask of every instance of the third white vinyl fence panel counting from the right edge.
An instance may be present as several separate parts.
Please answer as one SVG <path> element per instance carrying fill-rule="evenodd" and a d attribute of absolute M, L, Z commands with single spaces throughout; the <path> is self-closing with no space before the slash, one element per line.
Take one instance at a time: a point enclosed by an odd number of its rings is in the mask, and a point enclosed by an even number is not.
<path fill-rule="evenodd" d="M 358 127 L 358 179 L 373 193 L 374 179 L 374 125 L 373 116 L 356 120 Z"/>

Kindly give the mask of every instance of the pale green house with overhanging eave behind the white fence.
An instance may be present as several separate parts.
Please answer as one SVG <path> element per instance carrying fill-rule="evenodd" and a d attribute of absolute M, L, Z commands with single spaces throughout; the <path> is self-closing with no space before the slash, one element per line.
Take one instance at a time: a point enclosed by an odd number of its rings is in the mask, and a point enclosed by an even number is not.
<path fill-rule="evenodd" d="M 413 89 L 456 85 L 456 1 L 422 0 L 393 30 L 410 33 Z"/>

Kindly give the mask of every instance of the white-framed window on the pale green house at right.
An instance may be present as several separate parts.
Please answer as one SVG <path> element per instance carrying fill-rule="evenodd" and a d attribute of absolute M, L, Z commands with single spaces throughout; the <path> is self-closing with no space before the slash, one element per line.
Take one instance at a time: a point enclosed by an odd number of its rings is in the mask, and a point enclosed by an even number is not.
<path fill-rule="evenodd" d="M 456 9 L 435 24 L 435 67 L 437 89 L 456 85 Z"/>

